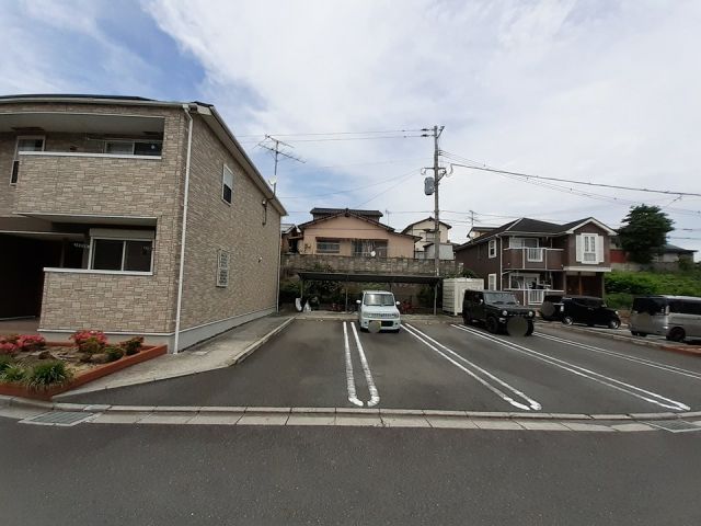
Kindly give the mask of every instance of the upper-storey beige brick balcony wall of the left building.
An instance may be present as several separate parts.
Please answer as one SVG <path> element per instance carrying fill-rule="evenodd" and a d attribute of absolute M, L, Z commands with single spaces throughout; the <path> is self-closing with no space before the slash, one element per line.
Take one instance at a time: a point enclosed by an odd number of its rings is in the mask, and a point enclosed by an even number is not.
<path fill-rule="evenodd" d="M 22 152 L 14 213 L 66 221 L 78 216 L 152 217 L 174 199 L 160 156 Z"/>

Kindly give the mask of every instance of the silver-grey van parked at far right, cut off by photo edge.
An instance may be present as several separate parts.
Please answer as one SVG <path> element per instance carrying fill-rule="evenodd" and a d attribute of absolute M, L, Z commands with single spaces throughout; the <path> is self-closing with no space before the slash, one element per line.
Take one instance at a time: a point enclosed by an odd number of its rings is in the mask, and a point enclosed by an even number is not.
<path fill-rule="evenodd" d="M 633 299 L 631 334 L 658 334 L 674 342 L 701 340 L 701 298 L 640 296 Z"/>

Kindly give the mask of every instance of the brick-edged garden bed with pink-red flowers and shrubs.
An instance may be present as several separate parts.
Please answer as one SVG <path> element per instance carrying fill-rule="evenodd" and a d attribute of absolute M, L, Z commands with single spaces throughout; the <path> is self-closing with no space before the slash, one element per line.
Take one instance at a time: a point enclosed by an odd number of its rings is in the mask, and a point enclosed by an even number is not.
<path fill-rule="evenodd" d="M 122 348 L 119 346 L 103 346 L 104 348 L 100 348 L 100 351 L 111 347 Z M 41 345 L 15 350 L 10 355 L 10 358 L 4 359 L 11 359 L 10 366 L 25 371 L 25 378 L 13 380 L 0 374 L 0 395 L 50 400 L 56 395 L 69 391 L 89 381 L 163 355 L 166 352 L 166 346 L 141 344 L 136 347 L 134 354 L 123 354 L 116 358 L 112 356 L 110 358 L 112 361 L 107 363 L 85 361 L 83 351 L 70 342 L 42 342 Z M 103 353 L 93 353 L 93 355 L 101 354 Z M 2 358 L 1 354 L 0 358 Z M 37 368 L 44 368 L 46 371 L 47 368 L 51 369 L 51 365 L 56 364 L 56 370 L 59 371 L 56 375 L 59 376 L 59 379 L 53 382 L 50 379 L 41 378 L 43 382 L 37 385 L 36 377 L 39 376 L 35 373 Z M 60 371 L 66 373 L 62 380 L 60 379 Z M 7 366 L 4 373 L 7 373 Z M 48 370 L 48 374 L 55 374 L 55 371 Z"/>

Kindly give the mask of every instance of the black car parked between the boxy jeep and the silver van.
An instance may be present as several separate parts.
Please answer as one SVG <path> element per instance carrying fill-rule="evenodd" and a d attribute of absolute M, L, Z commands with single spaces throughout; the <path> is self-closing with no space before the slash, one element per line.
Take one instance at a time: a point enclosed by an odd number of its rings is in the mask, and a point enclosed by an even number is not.
<path fill-rule="evenodd" d="M 609 309 L 601 298 L 593 296 L 549 295 L 540 306 L 540 316 L 548 321 L 562 321 L 565 325 L 586 323 L 589 327 L 621 327 L 618 311 Z"/>

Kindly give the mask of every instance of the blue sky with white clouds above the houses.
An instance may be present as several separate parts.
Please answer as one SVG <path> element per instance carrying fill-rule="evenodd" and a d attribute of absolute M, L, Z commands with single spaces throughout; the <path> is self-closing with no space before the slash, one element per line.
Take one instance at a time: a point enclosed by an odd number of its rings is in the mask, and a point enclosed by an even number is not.
<path fill-rule="evenodd" d="M 617 228 L 644 203 L 701 251 L 701 197 L 674 194 L 701 193 L 700 26 L 696 0 L 0 0 L 0 94 L 211 103 L 266 179 L 266 135 L 299 159 L 278 164 L 286 222 L 314 206 L 400 230 L 433 215 L 422 129 L 445 126 L 453 242 L 517 217 Z"/>

